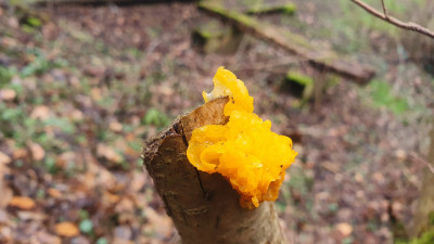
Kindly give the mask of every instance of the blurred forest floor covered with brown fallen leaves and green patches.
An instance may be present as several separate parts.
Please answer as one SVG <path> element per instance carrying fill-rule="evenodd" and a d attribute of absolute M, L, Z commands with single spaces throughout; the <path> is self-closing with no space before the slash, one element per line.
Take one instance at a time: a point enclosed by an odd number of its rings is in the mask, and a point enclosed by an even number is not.
<path fill-rule="evenodd" d="M 295 15 L 258 17 L 376 77 L 358 86 L 318 74 L 248 35 L 234 52 L 202 52 L 192 31 L 217 18 L 194 3 L 0 4 L 0 243 L 177 243 L 140 150 L 203 103 L 219 66 L 245 82 L 273 131 L 293 137 L 299 154 L 277 201 L 291 243 L 393 243 L 426 170 L 430 66 L 408 59 L 420 51 L 412 35 L 349 1 L 294 2 Z M 290 69 L 333 86 L 316 107 L 303 104 L 285 86 Z"/>

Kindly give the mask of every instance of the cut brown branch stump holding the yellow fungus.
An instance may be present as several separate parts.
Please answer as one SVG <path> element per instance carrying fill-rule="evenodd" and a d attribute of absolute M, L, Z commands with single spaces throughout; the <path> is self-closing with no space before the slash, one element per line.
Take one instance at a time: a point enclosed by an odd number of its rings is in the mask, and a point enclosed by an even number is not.
<path fill-rule="evenodd" d="M 145 142 L 144 165 L 184 244 L 286 243 L 273 203 L 240 207 L 239 194 L 219 174 L 196 170 L 186 152 L 192 131 L 224 125 L 228 98 L 210 101 Z"/>

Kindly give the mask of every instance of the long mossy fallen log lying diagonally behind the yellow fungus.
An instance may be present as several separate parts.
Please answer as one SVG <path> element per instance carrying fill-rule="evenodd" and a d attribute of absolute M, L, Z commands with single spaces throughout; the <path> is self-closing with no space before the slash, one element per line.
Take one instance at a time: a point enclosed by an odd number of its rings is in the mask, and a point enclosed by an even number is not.
<path fill-rule="evenodd" d="M 339 56 L 330 50 L 318 50 L 299 35 L 258 22 L 243 13 L 226 10 L 219 3 L 202 1 L 199 3 L 199 8 L 232 22 L 241 30 L 270 41 L 292 54 L 306 59 L 314 67 L 321 72 L 333 72 L 359 84 L 368 82 L 375 74 L 372 67 L 344 61 L 344 57 Z"/>

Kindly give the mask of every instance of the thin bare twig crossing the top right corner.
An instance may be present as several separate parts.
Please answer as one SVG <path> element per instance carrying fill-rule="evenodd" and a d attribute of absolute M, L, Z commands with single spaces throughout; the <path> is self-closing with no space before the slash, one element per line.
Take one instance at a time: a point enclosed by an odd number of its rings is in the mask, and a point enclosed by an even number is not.
<path fill-rule="evenodd" d="M 408 29 L 408 30 L 411 30 L 411 31 L 420 33 L 420 34 L 422 34 L 422 35 L 424 35 L 426 37 L 430 37 L 430 38 L 434 39 L 434 33 L 431 31 L 427 28 L 424 28 L 424 27 L 422 27 L 422 26 L 420 26 L 420 25 L 418 25 L 416 23 L 412 23 L 412 22 L 405 23 L 405 22 L 401 22 L 401 21 L 399 21 L 399 20 L 397 20 L 397 18 L 395 18 L 395 17 L 393 17 L 391 15 L 385 15 L 384 13 L 380 13 L 379 11 L 376 11 L 375 9 L 373 9 L 372 7 L 368 5 L 367 3 L 365 3 L 365 2 L 362 2 L 360 0 L 350 0 L 350 1 L 356 3 L 357 5 L 359 5 L 363 10 L 366 10 L 368 13 L 370 13 L 370 14 L 374 15 L 375 17 L 381 18 L 381 20 L 383 20 L 385 22 L 388 22 L 392 25 L 395 25 L 395 26 L 397 26 L 399 28 L 403 28 L 403 29 Z"/>

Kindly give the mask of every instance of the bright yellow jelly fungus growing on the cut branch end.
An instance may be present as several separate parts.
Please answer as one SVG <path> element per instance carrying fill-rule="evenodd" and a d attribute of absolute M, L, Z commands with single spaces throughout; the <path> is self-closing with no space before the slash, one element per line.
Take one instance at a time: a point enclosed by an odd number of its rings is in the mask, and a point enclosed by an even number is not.
<path fill-rule="evenodd" d="M 204 92 L 204 100 L 229 97 L 225 105 L 229 121 L 195 129 L 187 150 L 189 162 L 201 171 L 228 179 L 240 193 L 243 207 L 275 201 L 285 169 L 297 155 L 291 139 L 271 132 L 271 121 L 253 113 L 253 98 L 231 72 L 219 67 L 213 81 L 214 90 Z"/>

